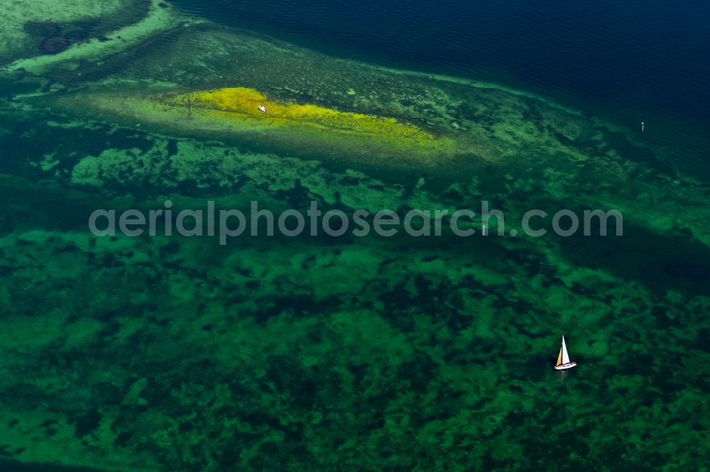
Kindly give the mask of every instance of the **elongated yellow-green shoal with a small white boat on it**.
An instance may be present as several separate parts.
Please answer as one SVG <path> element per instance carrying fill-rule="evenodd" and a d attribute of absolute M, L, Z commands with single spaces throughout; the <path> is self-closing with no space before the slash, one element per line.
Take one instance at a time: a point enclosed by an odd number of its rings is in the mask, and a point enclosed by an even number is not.
<path fill-rule="evenodd" d="M 271 99 L 244 87 L 151 96 L 99 92 L 69 100 L 62 99 L 68 106 L 81 101 L 92 113 L 122 115 L 129 126 L 238 140 L 246 148 L 280 155 L 436 165 L 457 149 L 451 138 L 392 117 Z"/>

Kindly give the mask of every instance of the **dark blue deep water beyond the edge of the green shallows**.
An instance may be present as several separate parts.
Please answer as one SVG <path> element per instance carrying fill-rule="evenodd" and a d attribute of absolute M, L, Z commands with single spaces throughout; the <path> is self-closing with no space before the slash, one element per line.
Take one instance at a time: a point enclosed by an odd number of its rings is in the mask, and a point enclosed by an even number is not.
<path fill-rule="evenodd" d="M 334 55 L 541 92 L 628 126 L 710 128 L 707 1 L 175 3 Z"/>

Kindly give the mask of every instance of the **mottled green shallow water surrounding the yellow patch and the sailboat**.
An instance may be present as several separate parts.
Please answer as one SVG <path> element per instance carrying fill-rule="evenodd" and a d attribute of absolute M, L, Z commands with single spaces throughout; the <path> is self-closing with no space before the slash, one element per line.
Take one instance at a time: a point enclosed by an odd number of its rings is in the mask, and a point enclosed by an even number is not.
<path fill-rule="evenodd" d="M 130 53 L 97 41 L 90 59 L 3 72 L 0 456 L 41 470 L 707 470 L 710 188 L 672 148 L 502 87 L 212 23 L 158 29 Z M 457 150 L 344 153 L 332 130 L 285 145 L 146 106 L 218 87 L 393 117 Z M 349 214 L 488 200 L 508 232 L 528 209 L 619 209 L 624 235 L 220 246 L 87 227 L 94 209 L 165 199 Z M 562 334 L 579 366 L 559 373 Z"/>

